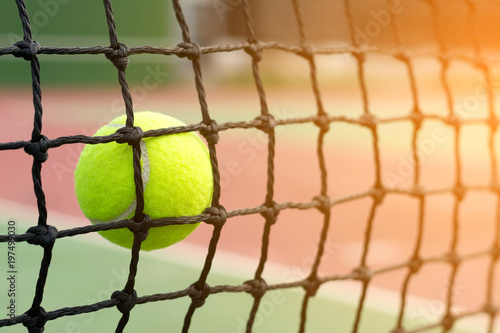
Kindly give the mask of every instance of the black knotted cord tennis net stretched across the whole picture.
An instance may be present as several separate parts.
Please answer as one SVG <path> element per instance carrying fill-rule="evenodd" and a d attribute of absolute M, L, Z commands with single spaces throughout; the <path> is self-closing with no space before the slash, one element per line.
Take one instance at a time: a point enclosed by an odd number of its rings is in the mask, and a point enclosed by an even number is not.
<path fill-rule="evenodd" d="M 492 81 L 492 64 L 491 59 L 488 59 L 481 48 L 479 31 L 477 28 L 477 8 L 480 4 L 491 3 L 493 5 L 500 4 L 497 1 L 476 1 L 476 0 L 463 0 L 459 1 L 461 4 L 467 6 L 467 17 L 464 18 L 469 37 L 472 40 L 473 55 L 457 52 L 456 50 L 449 49 L 445 41 L 442 26 L 440 25 L 440 13 L 438 1 L 436 0 L 421 0 L 426 4 L 431 13 L 432 31 L 434 38 L 439 45 L 439 52 L 437 53 L 419 53 L 411 52 L 404 45 L 404 36 L 400 28 L 400 22 L 397 17 L 391 21 L 388 29 L 393 33 L 394 40 L 396 41 L 395 48 L 383 48 L 374 45 L 362 44 L 359 38 L 355 38 L 357 26 L 353 14 L 354 0 L 344 0 L 345 17 L 347 18 L 351 41 L 349 44 L 340 45 L 338 47 L 315 47 L 312 45 L 307 35 L 307 27 L 304 24 L 303 13 L 301 9 L 300 0 L 291 0 L 294 8 L 296 27 L 300 36 L 298 44 L 282 44 L 278 42 L 264 42 L 257 38 L 255 33 L 255 26 L 252 20 L 249 1 L 242 0 L 240 5 L 243 9 L 244 22 L 246 25 L 247 42 L 220 44 L 215 46 L 199 46 L 196 44 L 188 29 L 188 22 L 186 21 L 182 6 L 179 0 L 173 0 L 172 4 L 175 10 L 175 15 L 182 31 L 182 42 L 173 47 L 127 47 L 119 42 L 117 29 L 113 17 L 111 7 L 111 0 L 104 0 L 104 10 L 109 27 L 110 46 L 107 47 L 45 47 L 40 46 L 32 39 L 30 28 L 30 20 L 28 11 L 25 7 L 24 0 L 16 0 L 20 19 L 22 21 L 22 28 L 24 39 L 15 43 L 11 47 L 0 48 L 0 55 L 13 55 L 15 57 L 24 58 L 31 64 L 32 74 L 32 87 L 33 87 L 33 102 L 34 102 L 34 127 L 30 140 L 5 142 L 0 143 L 0 150 L 13 150 L 24 149 L 24 151 L 33 156 L 32 178 L 34 183 L 34 191 L 38 204 L 39 219 L 38 224 L 30 228 L 25 234 L 15 235 L 13 240 L 16 242 L 28 242 L 30 244 L 39 245 L 43 249 L 43 259 L 40 266 L 40 274 L 36 284 L 35 295 L 31 308 L 24 314 L 19 315 L 13 319 L 0 320 L 0 327 L 8 327 L 16 324 L 23 324 L 30 332 L 42 332 L 44 325 L 47 321 L 56 320 L 63 316 L 77 315 L 81 313 L 88 313 L 93 311 L 100 311 L 105 308 L 116 307 L 121 313 L 122 317 L 117 324 L 117 332 L 123 331 L 129 320 L 129 316 L 133 311 L 134 305 L 144 304 L 148 302 L 167 301 L 182 297 L 190 297 L 191 303 L 187 310 L 184 319 L 183 332 L 188 332 L 191 320 L 198 308 L 204 305 L 205 300 L 210 295 L 215 293 L 235 293 L 246 292 L 253 296 L 253 306 L 250 310 L 247 321 L 247 332 L 252 331 L 252 327 L 256 320 L 256 314 L 259 310 L 259 305 L 266 292 L 284 289 L 284 288 L 303 288 L 304 296 L 300 310 L 300 327 L 298 330 L 304 332 L 308 317 L 308 309 L 310 308 L 310 301 L 316 295 L 318 289 L 322 285 L 332 284 L 344 280 L 358 281 L 362 286 L 361 294 L 357 304 L 355 320 L 352 323 L 352 332 L 359 330 L 360 322 L 363 316 L 363 309 L 366 301 L 367 292 L 371 281 L 374 277 L 395 270 L 406 270 L 404 282 L 400 289 L 400 302 L 399 313 L 394 322 L 393 332 L 422 332 L 432 328 L 441 328 L 443 332 L 452 330 L 454 324 L 463 318 L 472 317 L 476 315 L 486 315 L 489 318 L 488 327 L 485 332 L 493 332 L 496 322 L 496 314 L 499 311 L 499 304 L 495 302 L 494 293 L 498 292 L 495 286 L 495 280 L 498 276 L 495 272 L 495 267 L 498 264 L 498 257 L 500 254 L 500 223 L 499 211 L 497 208 L 495 227 L 491 230 L 493 241 L 491 244 L 486 244 L 483 251 L 461 254 L 458 251 L 458 235 L 460 225 L 463 223 L 460 218 L 460 207 L 463 197 L 468 192 L 482 191 L 492 193 L 496 200 L 500 199 L 500 187 L 498 182 L 497 173 L 497 149 L 495 147 L 495 134 L 498 127 L 498 119 L 495 112 L 494 101 L 494 82 Z M 305 2 L 303 2 L 305 3 Z M 388 0 L 388 6 L 397 5 L 397 0 Z M 308 5 L 311 5 L 308 2 Z M 233 52 L 245 50 L 252 59 L 252 73 L 255 86 L 260 99 L 261 114 L 252 121 L 239 121 L 239 122 L 226 122 L 218 124 L 210 115 L 209 105 L 205 97 L 205 89 L 202 81 L 202 67 L 200 59 L 203 55 L 219 52 Z M 279 50 L 291 54 L 296 54 L 302 57 L 309 66 L 310 83 L 316 101 L 316 114 L 309 117 L 295 117 L 287 119 L 275 119 L 273 114 L 269 111 L 268 102 L 266 100 L 266 90 L 261 78 L 259 70 L 259 62 L 262 60 L 263 51 L 265 50 Z M 134 127 L 134 109 L 132 103 L 132 96 L 129 92 L 129 87 L 126 78 L 126 68 L 128 65 L 128 57 L 137 54 L 162 54 L 167 56 L 178 56 L 187 58 L 194 71 L 195 85 L 198 93 L 198 100 L 202 114 L 202 122 L 199 124 L 191 124 L 185 127 L 165 128 L 155 131 L 147 131 L 142 133 Z M 366 64 L 365 58 L 368 54 L 384 54 L 391 56 L 395 61 L 404 65 L 411 87 L 411 102 L 412 107 L 407 116 L 404 117 L 389 117 L 381 118 L 375 115 L 371 108 L 368 98 L 368 87 L 366 84 Z M 123 100 L 125 102 L 125 112 L 127 115 L 126 128 L 117 131 L 117 133 L 105 137 L 88 137 L 84 135 L 65 136 L 56 139 L 49 139 L 42 134 L 42 92 L 40 86 L 40 63 L 38 61 L 38 54 L 47 55 L 74 55 L 74 54 L 93 54 L 105 55 L 118 70 L 118 81 L 121 86 Z M 324 107 L 322 95 L 320 92 L 320 84 L 318 83 L 318 71 L 316 67 L 316 57 L 318 55 L 342 55 L 347 54 L 355 59 L 357 69 L 357 76 L 359 82 L 359 89 L 361 91 L 363 115 L 361 117 L 349 118 L 345 116 L 333 116 L 328 113 Z M 438 116 L 426 113 L 419 105 L 419 98 L 416 87 L 416 73 L 413 60 L 424 56 L 432 57 L 439 62 L 439 75 L 440 84 L 444 90 L 447 101 L 447 114 Z M 476 68 L 486 86 L 488 114 L 484 119 L 463 119 L 457 114 L 457 110 L 453 104 L 452 91 L 450 88 L 450 79 L 447 76 L 450 63 L 455 60 L 464 61 L 474 68 Z M 453 131 L 454 138 L 454 158 L 453 163 L 456 170 L 454 185 L 449 188 L 442 189 L 425 189 L 421 186 L 421 161 L 418 153 L 418 138 L 422 128 L 422 123 L 425 120 L 435 120 L 441 122 Z M 410 122 L 412 124 L 412 141 L 411 141 L 411 159 L 414 165 L 414 173 L 412 178 L 412 186 L 406 189 L 390 187 L 383 182 L 381 171 L 381 150 L 380 150 L 380 133 L 379 127 L 381 124 L 387 123 L 400 123 Z M 359 125 L 366 128 L 371 136 L 372 149 L 373 149 L 373 164 L 375 166 L 375 182 L 373 186 L 361 193 L 353 193 L 352 195 L 332 198 L 329 196 L 329 189 L 327 188 L 327 165 L 325 159 L 325 136 L 329 132 L 330 127 L 334 123 L 347 123 L 351 125 Z M 285 126 L 289 124 L 314 124 L 317 126 L 317 161 L 321 177 L 321 187 L 317 196 L 309 202 L 275 202 L 274 196 L 274 162 L 275 162 L 275 147 L 276 136 L 275 129 L 277 126 Z M 482 125 L 488 131 L 488 151 L 489 163 L 491 165 L 490 183 L 488 186 L 468 186 L 465 185 L 461 178 L 462 156 L 461 156 L 461 130 L 470 124 Z M 218 133 L 221 131 L 229 131 L 233 129 L 249 129 L 255 128 L 266 133 L 268 137 L 267 144 L 267 191 L 263 204 L 257 207 L 245 208 L 233 211 L 226 211 L 219 202 L 221 195 L 220 174 L 217 160 L 217 142 L 219 141 Z M 214 177 L 214 194 L 212 206 L 206 211 L 194 217 L 171 218 L 165 217 L 158 220 L 150 220 L 144 214 L 144 198 L 141 180 L 141 166 L 140 166 L 140 146 L 138 144 L 141 138 L 169 135 L 173 133 L 199 131 L 207 140 L 210 158 L 213 168 Z M 91 225 L 77 227 L 67 230 L 57 230 L 55 227 L 49 225 L 47 222 L 47 208 L 44 198 L 44 190 L 41 182 L 41 169 L 43 163 L 48 158 L 48 151 L 63 145 L 84 143 L 84 144 L 101 144 L 107 142 L 121 142 L 128 143 L 133 146 L 133 163 L 134 163 L 134 179 L 136 184 L 137 196 L 137 209 L 135 216 L 132 219 L 112 222 L 107 224 Z M 415 235 L 415 243 L 413 254 L 403 262 L 394 263 L 392 265 L 384 266 L 377 269 L 372 269 L 367 263 L 367 257 L 370 252 L 371 236 L 374 228 L 375 215 L 377 210 L 383 204 L 384 197 L 387 194 L 397 194 L 400 196 L 408 196 L 418 202 L 418 230 Z M 454 209 L 452 216 L 451 228 L 451 242 L 447 253 L 441 256 L 425 257 L 422 255 L 422 235 L 425 226 L 424 211 L 426 202 L 430 196 L 436 194 L 450 194 L 453 196 Z M 325 243 L 327 241 L 328 233 L 333 223 L 330 215 L 332 207 L 346 202 L 356 201 L 361 198 L 371 198 L 371 207 L 369 211 L 366 229 L 363 235 L 363 249 L 362 255 L 359 260 L 357 268 L 349 274 L 344 275 L 320 275 L 319 267 L 321 259 L 325 252 Z M 500 205 L 497 204 L 497 207 Z M 308 272 L 308 276 L 304 279 L 296 281 L 280 283 L 280 284 L 267 284 L 263 278 L 263 271 L 266 266 L 268 252 L 270 247 L 270 235 L 275 223 L 280 223 L 279 213 L 284 210 L 311 210 L 317 209 L 322 214 L 322 229 L 317 244 L 317 250 L 314 257 L 314 262 Z M 211 271 L 211 266 L 216 255 L 218 241 L 221 231 L 225 223 L 230 223 L 231 218 L 242 215 L 262 215 L 265 219 L 264 229 L 262 232 L 262 246 L 261 255 L 258 265 L 255 269 L 253 278 L 241 285 L 220 285 L 209 286 L 207 278 Z M 258 218 L 258 217 L 256 217 Z M 174 225 L 174 224 L 193 224 L 204 222 L 213 226 L 213 235 L 208 247 L 206 260 L 201 269 L 201 273 L 197 281 L 183 290 L 176 292 L 168 292 L 154 295 L 137 295 L 134 290 L 135 276 L 137 273 L 137 265 L 139 262 L 140 244 L 143 235 L 149 228 Z M 46 312 L 42 307 L 42 298 L 44 294 L 44 286 L 47 280 L 47 274 L 50 270 L 51 256 L 54 243 L 58 238 L 77 236 L 85 233 L 93 233 L 103 230 L 111 230 L 118 228 L 129 228 L 134 232 L 134 244 L 131 251 L 130 271 L 126 285 L 123 290 L 113 293 L 109 300 L 98 302 L 95 304 L 88 304 L 83 306 L 66 307 L 58 310 Z M 0 236 L 1 242 L 12 240 L 8 235 Z M 466 312 L 456 312 L 453 309 L 453 290 L 456 283 L 456 277 L 459 267 L 466 261 L 473 260 L 474 258 L 486 258 L 488 260 L 488 268 L 483 272 L 483 283 L 485 284 L 486 293 L 484 295 L 483 306 Z M 409 297 L 409 286 L 415 275 L 422 269 L 422 267 L 429 264 L 440 263 L 447 265 L 450 268 L 449 273 L 449 288 L 445 295 L 445 311 L 441 318 L 435 322 L 426 323 L 425 325 L 407 329 L 404 326 L 404 317 L 406 304 Z M 57 263 L 54 263 L 57 265 Z M 310 311 L 310 310 L 309 310 Z M 333 314 L 334 315 L 334 314 Z M 342 318 L 338 318 L 342 320 Z"/>

